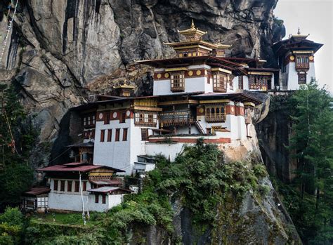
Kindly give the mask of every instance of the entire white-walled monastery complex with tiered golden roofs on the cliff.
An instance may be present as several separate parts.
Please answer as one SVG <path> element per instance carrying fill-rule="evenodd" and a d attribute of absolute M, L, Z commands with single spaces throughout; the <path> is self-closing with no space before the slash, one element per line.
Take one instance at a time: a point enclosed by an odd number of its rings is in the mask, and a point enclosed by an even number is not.
<path fill-rule="evenodd" d="M 155 68 L 151 96 L 131 97 L 135 87 L 123 84 L 117 95 L 96 95 L 73 108 L 83 128 L 82 141 L 69 146 L 73 162 L 39 169 L 48 187 L 22 195 L 24 208 L 107 211 L 131 193 L 122 176 L 151 171 L 155 155 L 173 161 L 199 138 L 218 145 L 251 138 L 250 112 L 261 100 L 247 91 L 296 90 L 310 82 L 313 54 L 322 46 L 300 33 L 279 41 L 274 69 L 266 60 L 227 57 L 230 45 L 204 41 L 193 22 L 179 33 L 184 41 L 166 44 L 176 57 L 138 61 Z"/>

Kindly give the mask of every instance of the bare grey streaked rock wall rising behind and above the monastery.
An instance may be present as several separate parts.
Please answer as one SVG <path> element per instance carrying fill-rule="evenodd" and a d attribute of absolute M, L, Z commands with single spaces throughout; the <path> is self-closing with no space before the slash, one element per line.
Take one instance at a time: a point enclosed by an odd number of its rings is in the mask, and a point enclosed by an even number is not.
<path fill-rule="evenodd" d="M 17 81 L 23 104 L 37 115 L 41 142 L 54 140 L 65 112 L 86 101 L 83 87 L 110 91 L 126 76 L 138 85 L 137 94 L 150 94 L 147 69 L 133 61 L 173 55 L 163 43 L 181 39 L 177 29 L 188 28 L 192 19 L 208 31 L 207 40 L 232 44 L 230 55 L 261 51 L 274 65 L 270 44 L 284 35 L 273 20 L 277 1 L 21 0 L 0 82 Z M 8 11 L 4 3 L 0 9 L 2 38 Z"/>

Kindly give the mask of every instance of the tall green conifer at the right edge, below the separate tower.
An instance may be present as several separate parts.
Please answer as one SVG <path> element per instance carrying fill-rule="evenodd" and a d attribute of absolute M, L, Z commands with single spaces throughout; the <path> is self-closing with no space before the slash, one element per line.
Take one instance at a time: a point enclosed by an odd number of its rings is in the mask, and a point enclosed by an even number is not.
<path fill-rule="evenodd" d="M 315 81 L 292 95 L 292 137 L 289 150 L 299 166 L 296 183 L 300 199 L 294 216 L 308 241 L 332 237 L 323 234 L 333 222 L 333 109 L 332 97 Z"/>

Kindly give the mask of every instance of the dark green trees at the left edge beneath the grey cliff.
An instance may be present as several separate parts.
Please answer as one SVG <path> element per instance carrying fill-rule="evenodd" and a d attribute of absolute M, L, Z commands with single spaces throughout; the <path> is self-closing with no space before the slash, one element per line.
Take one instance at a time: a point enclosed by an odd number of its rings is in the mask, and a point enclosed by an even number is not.
<path fill-rule="evenodd" d="M 20 193 L 32 184 L 29 156 L 37 130 L 25 114 L 14 86 L 0 86 L 4 108 L 0 113 L 0 210 L 16 205 Z M 15 146 L 15 147 L 14 147 Z"/>

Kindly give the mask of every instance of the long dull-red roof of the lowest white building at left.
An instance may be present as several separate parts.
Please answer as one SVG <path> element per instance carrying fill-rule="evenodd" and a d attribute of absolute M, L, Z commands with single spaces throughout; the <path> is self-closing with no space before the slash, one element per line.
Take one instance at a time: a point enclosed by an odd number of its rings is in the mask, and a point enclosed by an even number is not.
<path fill-rule="evenodd" d="M 74 165 L 74 166 L 73 166 Z M 103 166 L 103 165 L 80 165 L 76 166 L 75 164 L 68 165 L 55 165 L 55 166 L 48 166 L 46 168 L 39 168 L 37 171 L 43 171 L 43 172 L 89 172 L 94 169 L 98 168 L 108 168 L 111 169 L 115 172 L 125 172 L 124 170 L 117 169 L 117 168 L 112 168 L 109 166 Z"/>

